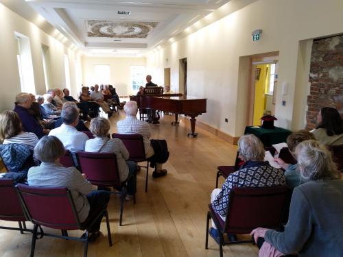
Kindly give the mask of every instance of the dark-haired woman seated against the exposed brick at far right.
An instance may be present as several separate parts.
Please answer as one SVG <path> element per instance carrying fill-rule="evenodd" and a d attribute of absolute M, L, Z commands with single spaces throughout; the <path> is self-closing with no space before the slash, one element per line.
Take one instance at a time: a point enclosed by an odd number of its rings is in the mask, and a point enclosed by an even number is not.
<path fill-rule="evenodd" d="M 335 108 L 324 107 L 318 112 L 318 126 L 311 131 L 324 145 L 343 145 L 343 119 Z"/>

